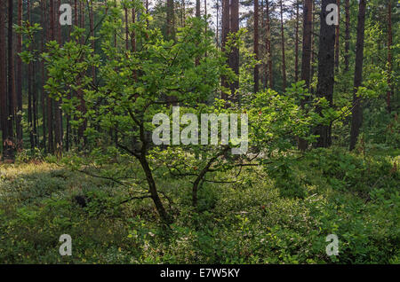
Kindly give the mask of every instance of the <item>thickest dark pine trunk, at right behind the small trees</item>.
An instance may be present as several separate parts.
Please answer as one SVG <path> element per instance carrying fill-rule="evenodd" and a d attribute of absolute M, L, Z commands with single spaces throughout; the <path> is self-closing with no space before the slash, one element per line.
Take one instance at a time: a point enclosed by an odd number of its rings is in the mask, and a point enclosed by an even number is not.
<path fill-rule="evenodd" d="M 326 23 L 328 12 L 326 6 L 336 4 L 336 0 L 323 0 L 321 7 L 321 27 L 319 34 L 318 51 L 318 84 L 316 95 L 319 98 L 326 98 L 329 106 L 333 104 L 333 84 L 334 84 L 334 65 L 335 65 L 335 26 Z M 321 108 L 317 108 L 321 114 Z M 327 148 L 332 145 L 332 126 L 319 125 L 316 128 L 316 135 L 319 135 L 316 141 L 316 147 Z"/>

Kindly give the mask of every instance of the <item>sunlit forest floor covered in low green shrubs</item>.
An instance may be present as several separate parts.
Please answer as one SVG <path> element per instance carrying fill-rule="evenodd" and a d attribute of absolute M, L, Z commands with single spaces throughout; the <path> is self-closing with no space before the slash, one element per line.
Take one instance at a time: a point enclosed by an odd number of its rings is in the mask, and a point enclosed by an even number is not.
<path fill-rule="evenodd" d="M 400 263 L 399 150 L 316 150 L 284 169 L 204 184 L 158 177 L 174 216 L 151 200 L 45 161 L 0 164 L 0 263 Z M 83 195 L 86 207 L 76 202 Z M 61 256 L 61 234 L 72 255 Z M 326 254 L 326 236 L 339 255 Z"/>

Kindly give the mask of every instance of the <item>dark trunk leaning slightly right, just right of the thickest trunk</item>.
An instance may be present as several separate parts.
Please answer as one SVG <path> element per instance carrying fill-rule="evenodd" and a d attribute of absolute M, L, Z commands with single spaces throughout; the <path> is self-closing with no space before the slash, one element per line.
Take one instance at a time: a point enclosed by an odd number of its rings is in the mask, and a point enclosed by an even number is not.
<path fill-rule="evenodd" d="M 353 109 L 350 131 L 350 151 L 354 150 L 357 143 L 357 138 L 360 133 L 360 128 L 363 123 L 363 108 L 362 101 L 357 96 L 358 88 L 363 81 L 363 61 L 364 61 L 364 22 L 365 22 L 365 6 L 366 0 L 360 0 L 358 10 L 357 24 L 357 43 L 356 43 L 356 69 L 354 73 L 354 92 L 353 92 Z"/>

